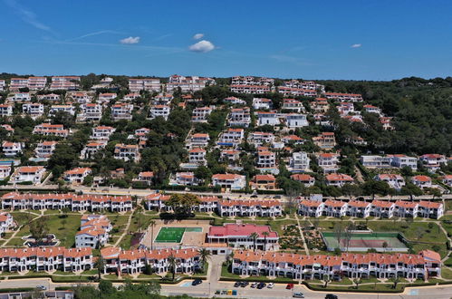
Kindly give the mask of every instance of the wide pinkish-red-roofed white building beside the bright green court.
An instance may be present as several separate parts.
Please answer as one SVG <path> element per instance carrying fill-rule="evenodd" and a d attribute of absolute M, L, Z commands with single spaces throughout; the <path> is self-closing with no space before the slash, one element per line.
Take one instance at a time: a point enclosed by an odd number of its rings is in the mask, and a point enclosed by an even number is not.
<path fill-rule="evenodd" d="M 278 233 L 270 227 L 254 224 L 226 224 L 223 227 L 209 227 L 207 232 L 207 243 L 227 244 L 234 248 L 254 249 L 255 246 L 257 250 L 275 251 L 279 249 L 278 241 Z"/>

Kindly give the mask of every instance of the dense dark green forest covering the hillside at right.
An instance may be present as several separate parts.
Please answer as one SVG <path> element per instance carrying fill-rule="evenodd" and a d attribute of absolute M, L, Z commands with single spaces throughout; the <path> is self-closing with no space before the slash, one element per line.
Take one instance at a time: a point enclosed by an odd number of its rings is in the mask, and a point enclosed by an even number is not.
<path fill-rule="evenodd" d="M 451 153 L 452 77 L 391 82 L 322 81 L 326 92 L 361 93 L 366 103 L 394 117 L 395 131 L 372 134 L 388 152 Z"/>

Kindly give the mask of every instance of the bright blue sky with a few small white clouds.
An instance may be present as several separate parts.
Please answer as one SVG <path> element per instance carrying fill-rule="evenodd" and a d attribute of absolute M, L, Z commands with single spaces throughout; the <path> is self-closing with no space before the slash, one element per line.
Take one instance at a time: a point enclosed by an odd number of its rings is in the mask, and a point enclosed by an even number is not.
<path fill-rule="evenodd" d="M 0 72 L 445 77 L 451 12 L 441 0 L 0 0 Z"/>

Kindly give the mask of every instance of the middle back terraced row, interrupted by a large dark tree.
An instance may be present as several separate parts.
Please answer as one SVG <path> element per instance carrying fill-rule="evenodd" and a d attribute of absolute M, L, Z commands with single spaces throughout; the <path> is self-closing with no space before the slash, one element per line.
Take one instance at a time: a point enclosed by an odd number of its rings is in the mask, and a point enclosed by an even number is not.
<path fill-rule="evenodd" d="M 165 202 L 169 200 L 168 195 L 155 193 L 145 198 L 148 209 L 158 209 L 172 211 Z M 221 217 L 241 216 L 241 217 L 280 217 L 283 215 L 283 204 L 279 200 L 248 200 L 235 199 L 225 200 L 216 197 L 199 197 L 201 201 L 192 207 L 197 212 L 216 212 Z"/>

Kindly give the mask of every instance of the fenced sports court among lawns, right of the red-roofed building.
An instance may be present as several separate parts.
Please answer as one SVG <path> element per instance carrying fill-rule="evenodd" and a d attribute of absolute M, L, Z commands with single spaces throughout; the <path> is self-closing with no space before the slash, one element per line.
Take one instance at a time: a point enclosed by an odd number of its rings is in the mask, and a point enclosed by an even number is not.
<path fill-rule="evenodd" d="M 380 252 L 407 252 L 404 236 L 398 232 L 365 232 L 351 234 L 350 241 L 342 234 L 338 240 L 334 232 L 322 233 L 322 239 L 329 251 L 368 251 L 373 248 Z M 339 241 L 339 242 L 338 242 Z"/>

